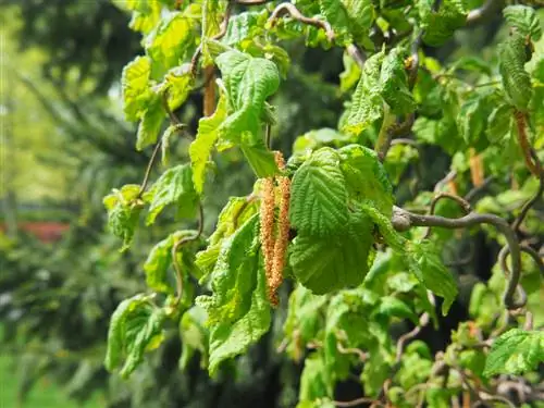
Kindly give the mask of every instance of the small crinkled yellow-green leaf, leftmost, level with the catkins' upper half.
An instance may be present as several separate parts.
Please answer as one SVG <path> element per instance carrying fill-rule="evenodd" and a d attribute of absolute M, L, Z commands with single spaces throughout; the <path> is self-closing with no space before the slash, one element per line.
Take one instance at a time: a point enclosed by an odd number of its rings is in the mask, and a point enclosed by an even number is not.
<path fill-rule="evenodd" d="M 138 224 L 143 201 L 138 199 L 140 186 L 127 184 L 121 190 L 114 189 L 103 198 L 108 211 L 108 227 L 113 235 L 123 239 L 125 250 L 131 246 L 134 231 Z"/>

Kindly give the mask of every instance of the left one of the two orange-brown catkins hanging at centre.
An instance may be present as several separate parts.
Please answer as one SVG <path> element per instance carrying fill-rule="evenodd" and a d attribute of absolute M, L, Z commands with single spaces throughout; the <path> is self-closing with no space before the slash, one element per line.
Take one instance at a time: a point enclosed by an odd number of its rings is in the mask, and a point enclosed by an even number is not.
<path fill-rule="evenodd" d="M 272 177 L 263 178 L 260 208 L 260 240 L 269 288 L 272 280 L 272 264 L 274 260 L 274 181 Z"/>

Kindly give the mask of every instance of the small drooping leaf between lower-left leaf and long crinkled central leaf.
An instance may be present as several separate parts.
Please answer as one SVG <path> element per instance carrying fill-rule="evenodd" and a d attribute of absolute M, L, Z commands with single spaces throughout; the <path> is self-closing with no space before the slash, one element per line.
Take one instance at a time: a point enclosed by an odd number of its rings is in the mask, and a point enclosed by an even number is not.
<path fill-rule="evenodd" d="M 182 337 L 182 356 L 180 357 L 180 368 L 185 370 L 195 351 L 200 351 L 200 367 L 208 366 L 208 343 L 209 331 L 205 323 L 208 319 L 206 310 L 199 306 L 193 306 L 183 313 L 180 320 L 180 335 Z"/>

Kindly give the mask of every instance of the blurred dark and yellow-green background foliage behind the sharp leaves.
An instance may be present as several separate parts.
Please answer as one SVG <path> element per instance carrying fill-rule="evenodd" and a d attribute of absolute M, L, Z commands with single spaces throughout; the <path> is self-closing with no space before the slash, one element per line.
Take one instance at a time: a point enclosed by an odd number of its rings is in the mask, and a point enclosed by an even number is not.
<path fill-rule="evenodd" d="M 475 2 L 479 3 L 479 2 Z M 139 51 L 129 16 L 109 0 L 0 0 L 1 191 L 0 319 L 2 321 L 0 405 L 2 407 L 290 407 L 297 399 L 300 367 L 281 360 L 274 330 L 233 363 L 233 375 L 210 380 L 194 358 L 178 370 L 182 345 L 176 327 L 128 382 L 103 367 L 109 318 L 123 298 L 145 290 L 141 269 L 153 243 L 172 231 L 174 215 L 136 236 L 133 249 L 104 231 L 102 197 L 114 186 L 139 183 L 150 151 L 134 149 L 135 128 L 120 103 L 122 67 Z M 482 52 L 495 40 L 496 20 L 458 33 L 434 57 L 444 61 Z M 279 125 L 274 148 L 289 154 L 295 138 L 312 128 L 337 125 L 349 92 L 338 88 L 342 50 L 289 44 L 293 67 L 275 97 Z M 450 53 L 455 50 L 455 55 Z M 432 50 L 429 50 L 432 55 Z M 483 51 L 485 52 L 485 51 Z M 202 96 L 195 92 L 176 114 L 196 132 Z M 368 135 L 368 143 L 372 135 Z M 172 161 L 187 160 L 187 141 L 173 147 Z M 397 151 L 398 150 L 398 151 Z M 450 158 L 436 147 L 397 154 L 390 169 L 400 201 L 412 199 L 415 181 L 432 190 Z M 415 160 L 419 156 L 419 161 Z M 405 171 L 400 171 L 404 168 Z M 153 177 L 162 169 L 157 166 Z M 207 232 L 228 196 L 250 191 L 252 175 L 236 152 L 218 161 L 205 202 Z M 58 239 L 29 233 L 32 222 L 67 230 Z M 55 226 L 57 225 L 57 226 Z M 190 227 L 191 225 L 187 225 Z M 45 238 L 44 238 L 45 237 Z M 491 275 L 498 248 L 483 235 L 471 238 L 477 256 L 463 267 L 461 285 Z M 459 248 L 457 248 L 459 249 Z M 460 247 L 463 250 L 463 247 Z M 281 301 L 286 305 L 286 293 Z M 444 348 L 450 330 L 467 319 L 454 306 L 440 331 L 422 333 L 433 350 Z M 467 298 L 465 294 L 465 298 Z M 358 384 L 355 382 L 354 390 Z M 350 384 L 338 391 L 350 399 Z M 356 391 L 355 391 L 356 392 Z M 70 399 L 69 399 L 70 398 Z"/>

